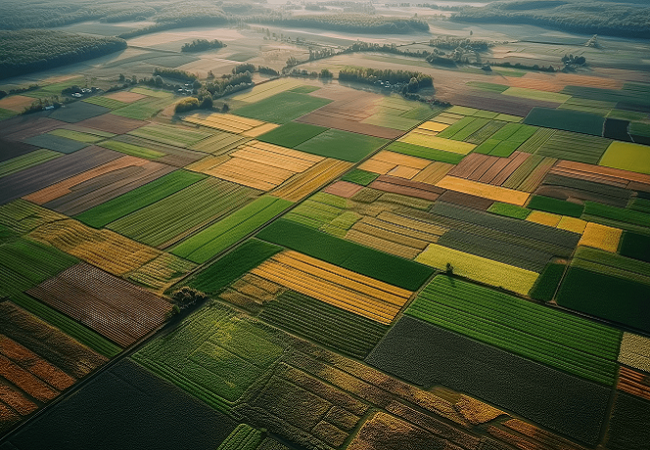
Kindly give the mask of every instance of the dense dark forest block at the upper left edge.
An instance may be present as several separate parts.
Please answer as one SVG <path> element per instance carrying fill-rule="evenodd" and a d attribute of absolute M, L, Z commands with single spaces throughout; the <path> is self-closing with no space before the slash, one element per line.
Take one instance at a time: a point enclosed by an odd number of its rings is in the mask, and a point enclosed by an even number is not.
<path fill-rule="evenodd" d="M 124 50 L 126 42 L 38 30 L 0 31 L 0 79 L 51 69 Z"/>

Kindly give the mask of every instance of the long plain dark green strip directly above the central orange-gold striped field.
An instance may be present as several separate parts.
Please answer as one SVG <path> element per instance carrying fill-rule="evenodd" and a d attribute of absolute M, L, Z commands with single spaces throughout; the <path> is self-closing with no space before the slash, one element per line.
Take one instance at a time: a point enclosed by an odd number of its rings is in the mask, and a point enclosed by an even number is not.
<path fill-rule="evenodd" d="M 417 290 L 433 269 L 353 242 L 344 241 L 309 227 L 276 220 L 257 233 L 259 239 L 321 259 L 408 290 Z"/>

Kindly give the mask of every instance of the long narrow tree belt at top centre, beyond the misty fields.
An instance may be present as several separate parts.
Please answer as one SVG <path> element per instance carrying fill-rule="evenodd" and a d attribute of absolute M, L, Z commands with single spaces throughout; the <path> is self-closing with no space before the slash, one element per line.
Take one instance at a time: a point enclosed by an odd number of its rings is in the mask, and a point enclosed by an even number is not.
<path fill-rule="evenodd" d="M 288 16 L 269 14 L 249 18 L 251 22 L 278 26 L 320 28 L 323 30 L 348 31 L 354 33 L 404 34 L 429 31 L 429 24 L 419 19 L 365 14 L 323 14 Z"/>

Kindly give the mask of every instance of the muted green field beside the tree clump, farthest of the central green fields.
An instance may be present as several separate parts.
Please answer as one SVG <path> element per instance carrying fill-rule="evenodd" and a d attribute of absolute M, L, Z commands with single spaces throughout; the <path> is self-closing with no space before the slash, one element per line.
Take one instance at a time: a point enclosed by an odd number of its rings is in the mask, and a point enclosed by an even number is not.
<path fill-rule="evenodd" d="M 234 113 L 250 119 L 283 124 L 331 102 L 331 100 L 311 95 L 281 92 L 259 102 L 236 108 Z"/>

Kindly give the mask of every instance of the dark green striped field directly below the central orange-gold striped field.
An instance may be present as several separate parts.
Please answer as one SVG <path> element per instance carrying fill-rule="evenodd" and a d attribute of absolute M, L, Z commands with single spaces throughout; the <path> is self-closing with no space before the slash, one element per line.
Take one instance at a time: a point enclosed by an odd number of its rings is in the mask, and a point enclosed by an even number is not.
<path fill-rule="evenodd" d="M 287 291 L 267 303 L 260 319 L 291 333 L 364 358 L 387 326 L 297 292 Z"/>

